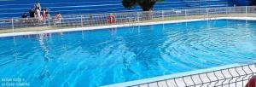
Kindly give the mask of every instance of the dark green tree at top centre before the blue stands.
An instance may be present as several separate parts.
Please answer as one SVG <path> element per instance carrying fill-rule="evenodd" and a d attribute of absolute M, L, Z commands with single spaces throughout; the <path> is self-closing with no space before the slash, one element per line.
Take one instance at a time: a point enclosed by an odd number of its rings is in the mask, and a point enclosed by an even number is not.
<path fill-rule="evenodd" d="M 126 9 L 131 9 L 139 5 L 143 11 L 151 11 L 155 3 L 162 1 L 163 0 L 123 0 L 122 3 Z"/>

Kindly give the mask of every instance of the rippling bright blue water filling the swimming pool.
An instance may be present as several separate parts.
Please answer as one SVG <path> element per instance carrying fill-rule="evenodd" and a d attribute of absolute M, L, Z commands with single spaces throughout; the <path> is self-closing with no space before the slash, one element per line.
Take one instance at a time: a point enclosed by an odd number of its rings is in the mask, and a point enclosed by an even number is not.
<path fill-rule="evenodd" d="M 254 60 L 256 21 L 248 20 L 0 38 L 0 78 L 34 87 L 94 87 Z"/>

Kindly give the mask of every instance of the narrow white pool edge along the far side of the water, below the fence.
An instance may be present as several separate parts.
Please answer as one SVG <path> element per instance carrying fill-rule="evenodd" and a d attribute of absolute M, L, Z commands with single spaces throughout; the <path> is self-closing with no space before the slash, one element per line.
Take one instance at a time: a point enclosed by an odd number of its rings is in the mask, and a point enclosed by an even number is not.
<path fill-rule="evenodd" d="M 256 20 L 256 18 L 253 18 L 253 17 L 216 17 L 216 18 L 207 18 L 207 19 L 168 20 L 168 21 L 156 21 L 156 22 L 144 22 L 144 23 L 136 23 L 135 22 L 135 23 L 130 23 L 130 24 L 111 25 L 111 26 L 90 26 L 90 27 L 78 27 L 78 28 L 68 28 L 68 29 L 63 28 L 63 29 L 34 31 L 34 32 L 9 32 L 9 33 L 1 33 L 0 38 L 21 36 L 21 35 L 54 33 L 54 32 L 75 32 L 75 31 L 85 31 L 85 30 L 118 28 L 118 27 L 125 27 L 125 26 L 148 26 L 148 25 L 158 25 L 158 24 L 191 22 L 191 21 L 199 21 L 199 20 L 222 20 L 222 19 L 228 19 L 228 20 L 229 19 L 231 19 L 231 20 Z"/>

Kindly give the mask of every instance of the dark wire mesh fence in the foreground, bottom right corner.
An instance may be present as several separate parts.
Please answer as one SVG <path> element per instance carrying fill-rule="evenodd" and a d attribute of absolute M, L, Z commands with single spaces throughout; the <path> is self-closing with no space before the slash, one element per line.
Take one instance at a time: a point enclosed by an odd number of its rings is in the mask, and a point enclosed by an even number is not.
<path fill-rule="evenodd" d="M 131 87 L 255 87 L 256 64 L 163 79 Z M 248 83 L 249 82 L 249 83 Z"/>

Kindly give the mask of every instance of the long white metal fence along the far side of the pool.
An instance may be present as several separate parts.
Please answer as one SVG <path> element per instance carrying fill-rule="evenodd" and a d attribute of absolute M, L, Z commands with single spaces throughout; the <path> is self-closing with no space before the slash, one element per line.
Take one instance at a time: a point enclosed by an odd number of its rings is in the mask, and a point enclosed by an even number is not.
<path fill-rule="evenodd" d="M 207 19 L 216 17 L 254 17 L 256 7 L 218 7 L 199 9 L 171 9 L 148 12 L 126 12 L 110 14 L 72 14 L 62 15 L 56 20 L 51 14 L 45 20 L 37 18 L 0 19 L 0 32 L 26 32 L 47 29 L 109 26 L 141 22 L 155 22 L 166 20 Z"/>

